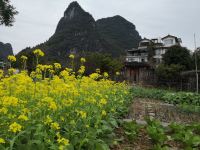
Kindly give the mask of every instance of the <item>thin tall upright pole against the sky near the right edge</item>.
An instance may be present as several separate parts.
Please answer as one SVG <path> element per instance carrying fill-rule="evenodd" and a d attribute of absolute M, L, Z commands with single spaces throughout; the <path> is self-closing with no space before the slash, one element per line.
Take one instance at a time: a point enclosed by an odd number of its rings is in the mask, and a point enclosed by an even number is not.
<path fill-rule="evenodd" d="M 199 74 L 198 74 L 198 65 L 197 65 L 197 44 L 196 44 L 196 35 L 194 34 L 194 57 L 195 57 L 195 72 L 196 72 L 196 92 L 199 93 Z"/>

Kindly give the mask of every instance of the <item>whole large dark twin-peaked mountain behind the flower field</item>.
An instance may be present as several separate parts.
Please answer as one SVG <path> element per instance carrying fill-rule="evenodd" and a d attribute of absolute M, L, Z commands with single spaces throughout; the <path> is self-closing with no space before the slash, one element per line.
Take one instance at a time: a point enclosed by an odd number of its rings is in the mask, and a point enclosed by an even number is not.
<path fill-rule="evenodd" d="M 137 47 L 141 36 L 135 25 L 121 16 L 95 21 L 77 2 L 72 2 L 60 19 L 55 33 L 48 41 L 18 53 L 30 55 L 35 48 L 45 52 L 44 62 L 64 64 L 69 53 L 108 53 L 114 57 L 125 54 L 126 49 Z"/>

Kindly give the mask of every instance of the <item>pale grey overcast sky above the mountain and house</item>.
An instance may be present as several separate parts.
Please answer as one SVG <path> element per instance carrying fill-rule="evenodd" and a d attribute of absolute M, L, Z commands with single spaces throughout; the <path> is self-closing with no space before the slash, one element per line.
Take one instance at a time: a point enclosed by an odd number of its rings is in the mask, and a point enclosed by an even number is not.
<path fill-rule="evenodd" d="M 200 46 L 200 0 L 77 0 L 95 20 L 121 15 L 142 37 L 172 34 L 183 46 L 194 49 L 194 33 Z M 0 26 L 0 41 L 11 43 L 14 53 L 35 46 L 55 32 L 72 0 L 11 0 L 19 14 L 13 27 Z"/>

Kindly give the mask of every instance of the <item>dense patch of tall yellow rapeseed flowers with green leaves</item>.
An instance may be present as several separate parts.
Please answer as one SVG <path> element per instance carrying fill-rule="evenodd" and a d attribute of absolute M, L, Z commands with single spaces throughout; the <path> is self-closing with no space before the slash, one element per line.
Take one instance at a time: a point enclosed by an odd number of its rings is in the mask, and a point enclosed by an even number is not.
<path fill-rule="evenodd" d="M 34 54 L 39 63 L 44 53 Z M 84 76 L 85 61 L 77 73 L 61 71 L 58 63 L 38 64 L 30 75 L 0 70 L 0 149 L 101 150 L 116 142 L 113 130 L 127 111 L 128 87 L 100 70 Z"/>

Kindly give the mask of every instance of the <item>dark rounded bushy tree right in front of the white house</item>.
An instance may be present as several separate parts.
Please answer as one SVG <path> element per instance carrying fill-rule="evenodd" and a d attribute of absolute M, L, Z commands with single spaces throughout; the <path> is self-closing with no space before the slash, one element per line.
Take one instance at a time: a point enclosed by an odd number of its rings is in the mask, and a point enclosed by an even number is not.
<path fill-rule="evenodd" d="M 173 46 L 167 50 L 163 56 L 165 65 L 181 65 L 185 70 L 191 69 L 192 57 L 187 48 L 181 46 Z"/>

